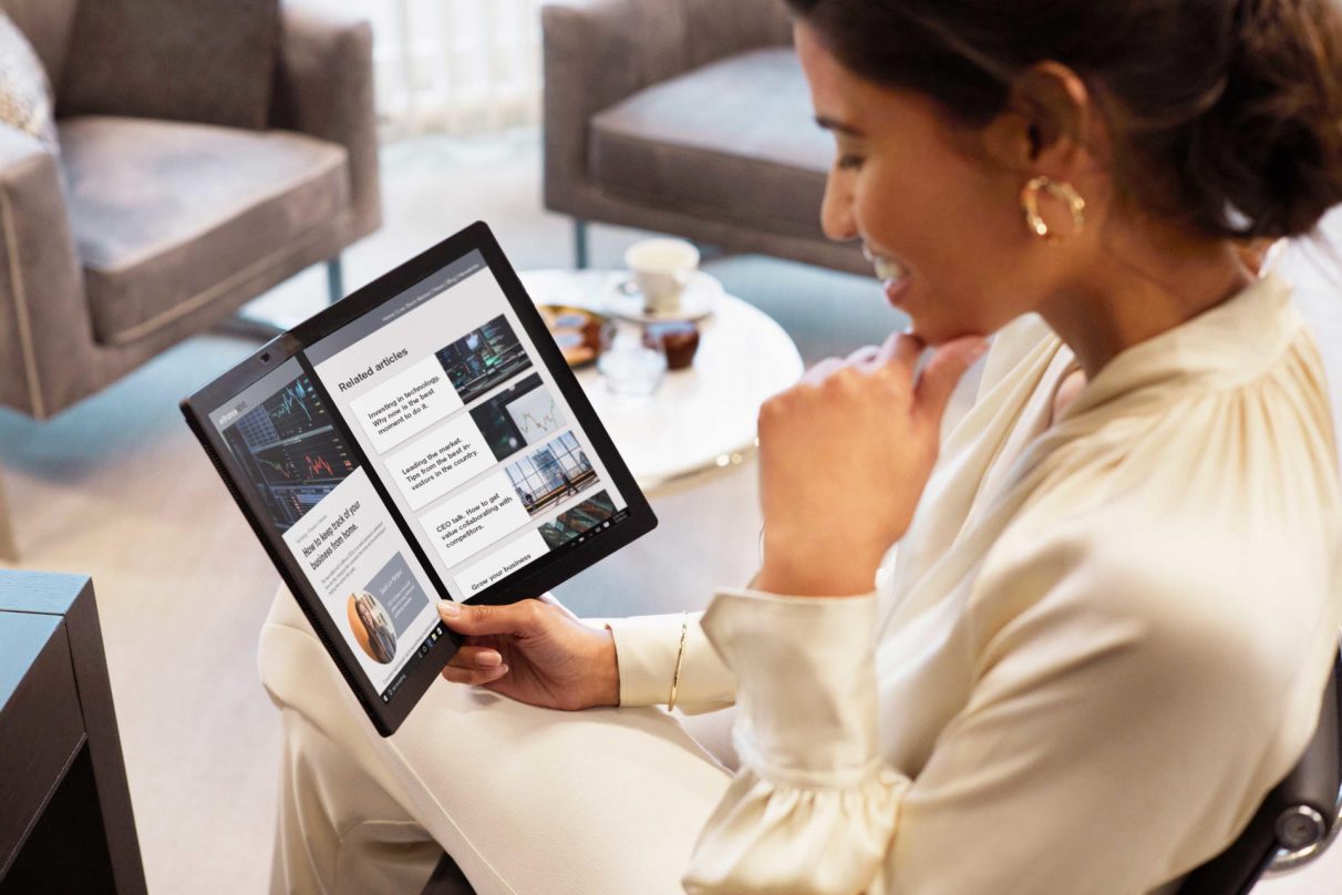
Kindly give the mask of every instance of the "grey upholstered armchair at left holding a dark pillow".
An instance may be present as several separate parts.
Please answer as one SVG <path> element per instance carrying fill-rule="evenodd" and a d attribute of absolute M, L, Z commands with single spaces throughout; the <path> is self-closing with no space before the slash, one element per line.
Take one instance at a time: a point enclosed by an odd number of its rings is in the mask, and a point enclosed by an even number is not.
<path fill-rule="evenodd" d="M 99 0 L 0 0 L 58 113 L 63 70 L 99 52 L 72 46 L 81 1 Z M 86 109 L 55 154 L 0 125 L 0 405 L 51 416 L 305 267 L 338 274 L 377 228 L 370 28 L 280 15 L 267 130 Z"/>

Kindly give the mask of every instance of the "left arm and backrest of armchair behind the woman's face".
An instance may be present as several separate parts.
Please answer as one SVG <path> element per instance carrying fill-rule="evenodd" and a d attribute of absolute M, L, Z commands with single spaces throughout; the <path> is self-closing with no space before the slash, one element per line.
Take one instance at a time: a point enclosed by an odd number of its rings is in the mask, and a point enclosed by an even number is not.
<path fill-rule="evenodd" d="M 777 0 L 548 0 L 541 27 L 550 208 L 586 180 L 592 115 L 699 66 L 792 39 Z"/>

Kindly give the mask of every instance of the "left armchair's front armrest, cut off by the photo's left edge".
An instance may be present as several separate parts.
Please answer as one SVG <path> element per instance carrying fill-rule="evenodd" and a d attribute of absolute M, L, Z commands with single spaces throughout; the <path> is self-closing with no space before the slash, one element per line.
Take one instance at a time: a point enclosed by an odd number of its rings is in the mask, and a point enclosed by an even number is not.
<path fill-rule="evenodd" d="M 0 125 L 0 404 L 36 417 L 68 404 L 91 339 L 56 157 Z"/>

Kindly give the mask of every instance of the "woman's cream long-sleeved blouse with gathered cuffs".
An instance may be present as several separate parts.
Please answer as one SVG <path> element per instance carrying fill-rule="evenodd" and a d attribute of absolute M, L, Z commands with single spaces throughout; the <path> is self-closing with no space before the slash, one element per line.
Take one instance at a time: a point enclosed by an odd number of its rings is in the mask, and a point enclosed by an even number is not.
<path fill-rule="evenodd" d="M 1327 389 L 1275 275 L 1114 358 L 1002 330 L 868 596 L 722 590 L 678 704 L 742 769 L 690 892 L 1161 891 L 1312 733 L 1342 623 Z M 894 553 L 894 551 L 891 551 Z M 680 616 L 612 623 L 666 702 Z"/>

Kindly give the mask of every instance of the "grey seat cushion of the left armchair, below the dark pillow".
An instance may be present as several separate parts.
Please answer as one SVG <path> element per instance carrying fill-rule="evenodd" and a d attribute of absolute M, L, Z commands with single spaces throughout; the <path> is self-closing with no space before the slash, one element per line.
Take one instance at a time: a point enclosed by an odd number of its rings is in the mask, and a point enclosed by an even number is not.
<path fill-rule="evenodd" d="M 349 205 L 337 144 L 138 118 L 59 122 L 94 335 L 129 342 L 302 248 Z"/>

